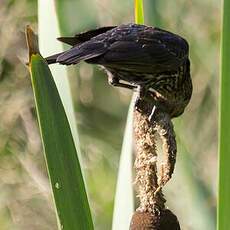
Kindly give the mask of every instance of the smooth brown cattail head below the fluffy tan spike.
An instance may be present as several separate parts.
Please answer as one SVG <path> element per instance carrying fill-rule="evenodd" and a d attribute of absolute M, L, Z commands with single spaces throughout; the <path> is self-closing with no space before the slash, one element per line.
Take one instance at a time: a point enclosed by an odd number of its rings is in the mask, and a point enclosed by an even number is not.
<path fill-rule="evenodd" d="M 136 211 L 131 220 L 130 230 L 180 230 L 180 224 L 169 209 L 155 213 Z"/>

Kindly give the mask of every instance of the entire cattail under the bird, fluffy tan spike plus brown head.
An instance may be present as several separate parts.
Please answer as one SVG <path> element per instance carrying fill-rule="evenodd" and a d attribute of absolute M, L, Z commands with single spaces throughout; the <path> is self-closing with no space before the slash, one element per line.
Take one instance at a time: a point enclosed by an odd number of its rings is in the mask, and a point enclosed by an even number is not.
<path fill-rule="evenodd" d="M 140 204 L 133 214 L 130 230 L 180 230 L 177 217 L 165 208 L 162 187 L 171 178 L 176 162 L 176 140 L 170 116 L 153 110 L 153 103 L 137 99 L 134 111 L 136 140 L 136 180 Z M 158 170 L 159 158 L 156 136 L 163 145 L 163 163 Z"/>

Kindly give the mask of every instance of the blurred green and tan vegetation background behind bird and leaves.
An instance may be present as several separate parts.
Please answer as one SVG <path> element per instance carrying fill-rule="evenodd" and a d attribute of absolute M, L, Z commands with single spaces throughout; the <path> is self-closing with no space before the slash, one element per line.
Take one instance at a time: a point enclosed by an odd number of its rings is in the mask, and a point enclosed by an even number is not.
<path fill-rule="evenodd" d="M 61 2 L 61 1 L 60 1 Z M 134 21 L 133 1 L 65 0 L 62 34 Z M 164 191 L 184 230 L 214 230 L 217 178 L 220 2 L 144 0 L 145 24 L 190 44 L 193 96 L 175 119 L 178 157 Z M 24 28 L 37 30 L 37 1 L 0 0 L 0 229 L 56 230 L 34 111 Z M 49 36 L 49 34 L 47 34 Z M 56 42 L 56 41 L 54 41 Z M 119 155 L 131 92 L 98 67 L 68 67 L 95 229 L 111 229 Z"/>

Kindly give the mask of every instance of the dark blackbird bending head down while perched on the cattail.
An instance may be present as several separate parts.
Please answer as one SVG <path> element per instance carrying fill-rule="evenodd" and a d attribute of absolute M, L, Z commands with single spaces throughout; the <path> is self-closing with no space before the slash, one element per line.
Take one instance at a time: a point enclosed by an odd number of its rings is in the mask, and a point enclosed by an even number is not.
<path fill-rule="evenodd" d="M 48 64 L 101 65 L 109 83 L 139 88 L 171 117 L 183 113 L 192 94 L 189 46 L 171 32 L 145 25 L 102 27 L 59 41 L 71 49 L 46 58 Z"/>

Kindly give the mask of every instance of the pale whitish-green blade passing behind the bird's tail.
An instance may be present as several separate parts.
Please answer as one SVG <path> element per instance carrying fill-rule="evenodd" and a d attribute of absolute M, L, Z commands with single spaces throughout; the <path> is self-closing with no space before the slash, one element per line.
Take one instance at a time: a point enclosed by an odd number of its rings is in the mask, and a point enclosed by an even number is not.
<path fill-rule="evenodd" d="M 38 25 L 39 48 L 42 55 L 49 56 L 63 51 L 62 44 L 56 41 L 56 38 L 60 37 L 60 30 L 55 12 L 54 0 L 38 1 Z M 70 123 L 71 132 L 73 134 L 73 139 L 76 148 L 78 148 L 78 157 L 81 161 L 80 144 L 66 67 L 62 65 L 53 65 L 50 69 L 64 105 L 66 115 Z"/>

